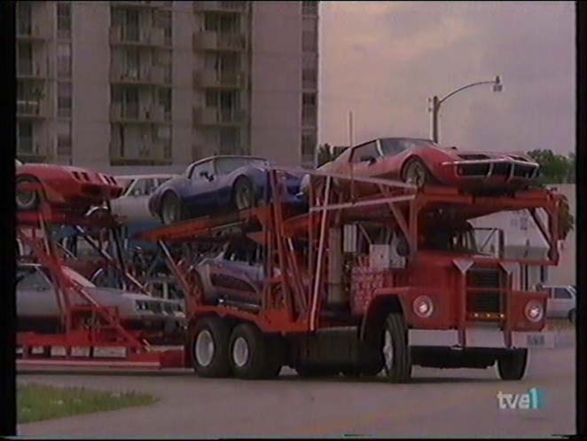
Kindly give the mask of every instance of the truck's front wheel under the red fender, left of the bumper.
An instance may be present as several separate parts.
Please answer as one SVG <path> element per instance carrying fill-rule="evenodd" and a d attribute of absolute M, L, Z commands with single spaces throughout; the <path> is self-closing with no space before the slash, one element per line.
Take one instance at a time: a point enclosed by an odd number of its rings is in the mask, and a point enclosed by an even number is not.
<path fill-rule="evenodd" d="M 409 382 L 411 379 L 411 354 L 407 334 L 402 314 L 390 313 L 383 327 L 382 352 L 383 367 L 391 382 Z"/>

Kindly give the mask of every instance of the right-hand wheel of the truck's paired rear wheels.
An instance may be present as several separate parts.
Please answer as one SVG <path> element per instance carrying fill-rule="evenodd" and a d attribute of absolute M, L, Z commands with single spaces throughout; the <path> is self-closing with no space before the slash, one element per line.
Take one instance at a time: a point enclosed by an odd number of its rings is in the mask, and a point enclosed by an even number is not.
<path fill-rule="evenodd" d="M 265 336 L 258 327 L 242 323 L 235 327 L 229 345 L 232 373 L 245 380 L 267 378 L 270 374 L 270 358 Z"/>

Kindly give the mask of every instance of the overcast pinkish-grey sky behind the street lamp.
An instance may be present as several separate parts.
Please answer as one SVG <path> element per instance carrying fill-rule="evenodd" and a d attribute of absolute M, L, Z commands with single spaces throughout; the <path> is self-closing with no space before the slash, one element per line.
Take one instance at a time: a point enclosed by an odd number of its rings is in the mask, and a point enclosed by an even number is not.
<path fill-rule="evenodd" d="M 496 151 L 575 150 L 575 6 L 322 2 L 319 142 L 429 138 L 427 98 L 447 100 L 441 142 Z"/>

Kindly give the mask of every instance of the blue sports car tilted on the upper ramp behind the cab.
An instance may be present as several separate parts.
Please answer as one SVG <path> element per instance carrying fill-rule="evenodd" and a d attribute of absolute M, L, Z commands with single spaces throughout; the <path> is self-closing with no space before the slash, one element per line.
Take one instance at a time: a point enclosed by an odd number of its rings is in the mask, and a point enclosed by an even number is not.
<path fill-rule="evenodd" d="M 212 156 L 192 163 L 160 185 L 149 210 L 163 224 L 227 210 L 250 209 L 270 199 L 269 161 L 253 156 Z M 298 202 L 300 177 L 286 173 L 286 201 Z M 301 202 L 301 201 L 300 201 Z"/>

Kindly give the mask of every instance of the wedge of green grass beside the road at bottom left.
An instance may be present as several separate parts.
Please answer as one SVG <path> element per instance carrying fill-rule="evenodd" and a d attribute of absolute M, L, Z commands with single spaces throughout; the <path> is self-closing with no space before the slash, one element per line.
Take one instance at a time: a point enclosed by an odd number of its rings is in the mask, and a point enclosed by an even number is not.
<path fill-rule="evenodd" d="M 123 407 L 146 406 L 157 401 L 135 392 L 108 392 L 82 388 L 57 388 L 41 384 L 17 385 L 19 424 Z"/>

